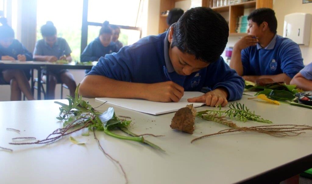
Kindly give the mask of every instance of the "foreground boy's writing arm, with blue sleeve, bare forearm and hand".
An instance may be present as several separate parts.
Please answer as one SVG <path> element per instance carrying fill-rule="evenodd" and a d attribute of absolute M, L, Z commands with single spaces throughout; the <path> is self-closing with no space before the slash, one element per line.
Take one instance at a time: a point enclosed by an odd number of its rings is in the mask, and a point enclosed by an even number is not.
<path fill-rule="evenodd" d="M 130 48 L 106 54 L 83 79 L 79 94 L 84 97 L 139 98 L 157 102 L 178 102 L 184 88 L 172 81 L 154 84 L 132 82 L 136 75 Z"/>

